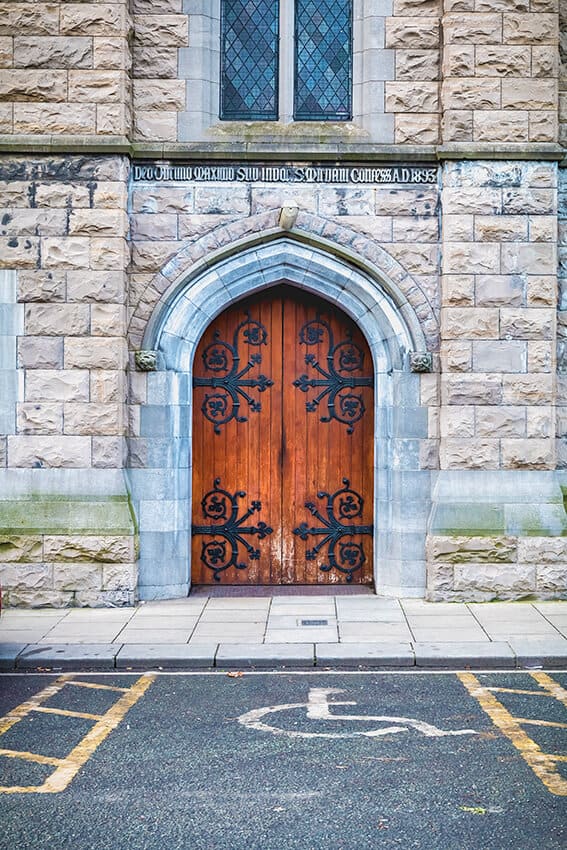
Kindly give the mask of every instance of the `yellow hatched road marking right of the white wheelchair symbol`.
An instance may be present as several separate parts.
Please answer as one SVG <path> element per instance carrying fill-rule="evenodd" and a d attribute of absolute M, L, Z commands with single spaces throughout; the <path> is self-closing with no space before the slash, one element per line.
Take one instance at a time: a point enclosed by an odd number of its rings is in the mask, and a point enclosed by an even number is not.
<path fill-rule="evenodd" d="M 530 675 L 538 684 L 547 688 L 549 696 L 555 696 L 555 693 L 552 694 L 550 690 L 550 686 L 552 685 L 556 685 L 557 688 L 563 691 L 561 686 L 551 679 L 550 676 L 547 676 L 547 674 L 543 674 L 545 680 L 540 678 L 542 674 L 531 673 Z M 560 776 L 555 769 L 556 762 L 563 761 L 564 758 L 562 756 L 544 753 L 536 742 L 522 729 L 520 725 L 522 722 L 521 718 L 513 717 L 508 709 L 490 692 L 490 689 L 480 684 L 476 676 L 473 676 L 472 673 L 457 673 L 457 676 L 470 695 L 478 700 L 492 722 L 498 726 L 516 747 L 524 761 L 531 767 L 548 791 L 561 797 L 567 797 L 567 780 Z"/>

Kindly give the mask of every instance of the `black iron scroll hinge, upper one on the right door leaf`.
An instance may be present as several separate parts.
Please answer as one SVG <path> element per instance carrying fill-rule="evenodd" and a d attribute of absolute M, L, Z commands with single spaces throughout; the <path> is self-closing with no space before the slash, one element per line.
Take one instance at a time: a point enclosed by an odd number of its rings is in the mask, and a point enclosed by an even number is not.
<path fill-rule="evenodd" d="M 317 410 L 319 404 L 326 399 L 327 416 L 321 416 L 321 422 L 337 422 L 347 426 L 347 434 L 352 434 L 354 426 L 365 413 L 364 399 L 362 393 L 356 392 L 360 387 L 372 387 L 374 379 L 372 375 L 356 376 L 353 372 L 362 372 L 364 368 L 364 352 L 352 340 L 352 331 L 346 332 L 346 338 L 335 345 L 331 326 L 319 314 L 309 322 L 306 322 L 299 331 L 299 342 L 302 345 L 318 345 L 327 340 L 327 368 L 318 362 L 314 354 L 306 354 L 305 362 L 312 366 L 318 377 L 300 375 L 293 385 L 301 392 L 307 393 L 310 389 L 320 390 L 315 398 L 305 403 L 307 410 L 312 413 Z"/>

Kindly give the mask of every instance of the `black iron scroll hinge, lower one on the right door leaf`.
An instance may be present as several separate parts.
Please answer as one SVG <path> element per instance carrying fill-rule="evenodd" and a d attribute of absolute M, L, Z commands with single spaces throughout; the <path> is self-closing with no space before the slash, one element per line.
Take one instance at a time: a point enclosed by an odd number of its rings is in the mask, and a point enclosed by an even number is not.
<path fill-rule="evenodd" d="M 320 527 L 309 526 L 302 522 L 293 529 L 301 540 L 311 536 L 321 536 L 323 539 L 312 549 L 308 549 L 305 557 L 314 561 L 324 546 L 328 545 L 327 563 L 319 569 L 328 573 L 333 569 L 346 575 L 347 582 L 352 581 L 353 573 L 362 569 L 366 561 L 364 547 L 352 539 L 358 535 L 372 535 L 371 525 L 356 525 L 352 521 L 362 516 L 364 499 L 353 490 L 348 478 L 343 478 L 344 487 L 334 493 L 317 493 L 318 499 L 326 499 L 327 519 L 321 515 L 314 502 L 306 502 L 305 507 L 322 523 Z"/>

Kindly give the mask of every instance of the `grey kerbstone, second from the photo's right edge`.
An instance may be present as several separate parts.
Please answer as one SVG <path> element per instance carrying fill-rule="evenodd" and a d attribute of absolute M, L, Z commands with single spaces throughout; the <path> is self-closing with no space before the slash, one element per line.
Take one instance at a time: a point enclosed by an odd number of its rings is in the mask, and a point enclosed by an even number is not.
<path fill-rule="evenodd" d="M 505 641 L 454 641 L 453 643 L 420 643 L 413 645 L 417 667 L 455 669 L 513 668 L 516 658 Z"/>

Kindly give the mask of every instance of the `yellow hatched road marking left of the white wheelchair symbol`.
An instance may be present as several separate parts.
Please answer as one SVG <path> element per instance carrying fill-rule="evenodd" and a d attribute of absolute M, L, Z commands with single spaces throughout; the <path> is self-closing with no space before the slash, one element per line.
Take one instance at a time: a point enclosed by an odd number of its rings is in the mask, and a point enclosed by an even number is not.
<path fill-rule="evenodd" d="M 39 694 L 36 694 L 31 699 L 27 700 L 22 705 L 18 706 L 9 715 L 3 718 L 0 721 L 0 734 L 3 731 L 6 731 L 14 723 L 17 723 L 19 720 L 22 720 L 27 714 L 31 711 L 38 710 L 39 704 L 48 699 L 50 696 L 53 696 L 54 693 L 58 693 L 66 684 L 70 684 L 68 682 L 69 675 L 61 676 L 54 685 L 49 686 L 48 688 L 44 688 L 43 691 L 40 691 Z M 133 705 L 142 697 L 151 683 L 155 679 L 155 674 L 148 673 L 146 675 L 140 676 L 140 678 L 132 685 L 132 687 L 127 688 L 125 693 L 122 694 L 120 699 L 118 699 L 108 711 L 105 712 L 104 715 L 93 715 L 96 717 L 100 717 L 97 719 L 92 729 L 87 732 L 84 738 L 74 747 L 71 752 L 63 759 L 60 759 L 57 762 L 57 767 L 53 771 L 53 773 L 45 780 L 43 785 L 12 785 L 12 786 L 0 786 L 0 793 L 4 794 L 54 794 L 60 791 L 64 791 L 65 788 L 69 785 L 69 783 L 75 778 L 81 767 L 88 761 L 88 759 L 95 752 L 97 747 L 108 737 L 108 735 L 112 732 L 113 729 L 116 729 L 118 724 L 124 719 L 127 712 L 132 708 Z M 62 713 L 59 712 L 58 713 Z M 69 712 L 65 712 L 63 716 L 69 716 Z M 9 722 L 8 722 L 9 721 Z M 15 752 L 15 751 L 12 751 Z M 1 754 L 1 753 L 0 753 Z M 32 758 L 35 756 L 35 759 Z M 15 755 L 11 757 L 17 757 Z M 28 761 L 40 761 L 42 759 L 48 758 L 47 756 L 39 756 L 35 753 L 20 753 L 20 757 L 27 759 Z M 51 763 L 43 762 L 40 763 Z"/>

